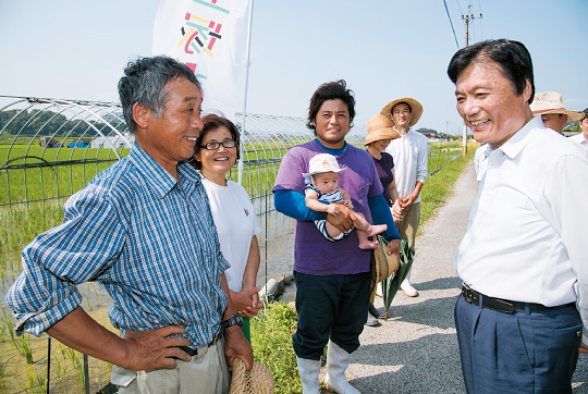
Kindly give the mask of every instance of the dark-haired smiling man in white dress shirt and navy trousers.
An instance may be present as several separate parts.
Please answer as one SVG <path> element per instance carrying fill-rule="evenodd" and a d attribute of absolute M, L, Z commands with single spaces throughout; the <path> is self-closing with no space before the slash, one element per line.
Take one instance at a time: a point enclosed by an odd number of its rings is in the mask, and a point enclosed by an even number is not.
<path fill-rule="evenodd" d="M 506 39 L 458 50 L 448 69 L 457 111 L 489 145 L 467 231 L 455 250 L 455 306 L 468 393 L 572 393 L 587 349 L 588 150 L 529 108 L 525 46 Z"/>

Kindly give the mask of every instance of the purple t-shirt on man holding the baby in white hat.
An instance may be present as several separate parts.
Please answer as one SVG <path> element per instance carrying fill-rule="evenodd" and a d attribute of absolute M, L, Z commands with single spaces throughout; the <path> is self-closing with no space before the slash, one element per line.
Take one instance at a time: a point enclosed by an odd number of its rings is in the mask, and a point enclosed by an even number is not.
<path fill-rule="evenodd" d="M 316 140 L 290 149 L 280 164 L 273 190 L 290 189 L 304 194 L 302 173 L 308 172 L 308 162 L 318 153 L 324 153 L 324 150 Z M 350 194 L 354 210 L 371 222 L 368 197 L 382 194 L 382 184 L 371 156 L 347 145 L 347 149 L 335 158 L 340 168 L 346 168 L 339 173 L 339 185 Z M 313 221 L 299 220 L 296 221 L 294 233 L 294 271 L 313 275 L 369 271 L 370 251 L 359 249 L 355 234 L 330 242 L 322 236 Z"/>

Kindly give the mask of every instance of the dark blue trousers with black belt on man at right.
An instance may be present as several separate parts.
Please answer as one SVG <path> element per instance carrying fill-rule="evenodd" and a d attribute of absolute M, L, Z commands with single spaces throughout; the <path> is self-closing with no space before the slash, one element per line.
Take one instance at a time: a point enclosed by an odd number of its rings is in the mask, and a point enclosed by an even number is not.
<path fill-rule="evenodd" d="M 575 306 L 511 315 L 460 295 L 455 327 L 468 394 L 572 393 L 581 342 Z"/>

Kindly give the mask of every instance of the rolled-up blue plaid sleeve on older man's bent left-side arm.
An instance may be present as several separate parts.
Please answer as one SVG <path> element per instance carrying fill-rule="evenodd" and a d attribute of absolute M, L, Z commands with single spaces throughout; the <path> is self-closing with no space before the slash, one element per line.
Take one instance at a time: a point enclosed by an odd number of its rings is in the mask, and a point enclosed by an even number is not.
<path fill-rule="evenodd" d="M 113 206 L 91 188 L 70 198 L 63 223 L 22 253 L 23 271 L 7 293 L 16 332 L 38 336 L 74 310 L 82 301 L 76 285 L 103 274 L 125 236 Z"/>

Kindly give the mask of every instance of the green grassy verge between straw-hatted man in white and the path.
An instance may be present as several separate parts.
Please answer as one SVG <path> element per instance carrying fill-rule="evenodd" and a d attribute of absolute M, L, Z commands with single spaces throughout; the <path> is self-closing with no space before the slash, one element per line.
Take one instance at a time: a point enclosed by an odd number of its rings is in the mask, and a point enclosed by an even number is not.
<path fill-rule="evenodd" d="M 465 157 L 461 156 L 445 164 L 425 182 L 420 192 L 420 222 L 417 234 L 420 234 L 422 224 L 434 217 L 437 209 L 445 204 L 455 181 L 473 158 L 473 152 L 468 152 Z"/>

